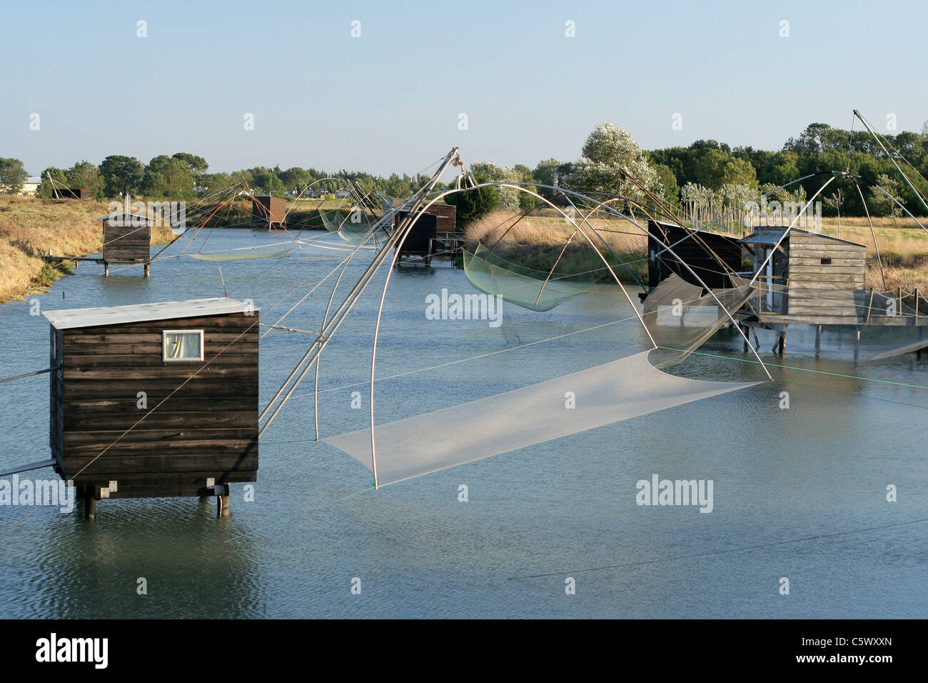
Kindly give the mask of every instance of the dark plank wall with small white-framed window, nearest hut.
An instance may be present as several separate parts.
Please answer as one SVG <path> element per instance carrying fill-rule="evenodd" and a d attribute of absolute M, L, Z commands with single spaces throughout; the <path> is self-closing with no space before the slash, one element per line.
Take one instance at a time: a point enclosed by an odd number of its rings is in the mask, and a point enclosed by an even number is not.
<path fill-rule="evenodd" d="M 65 476 L 86 466 L 75 486 L 116 479 L 113 497 L 195 495 L 208 477 L 253 481 L 258 321 L 255 312 L 65 330 Z M 204 330 L 204 361 L 161 361 L 165 329 Z M 141 391 L 147 409 L 138 407 Z"/>

